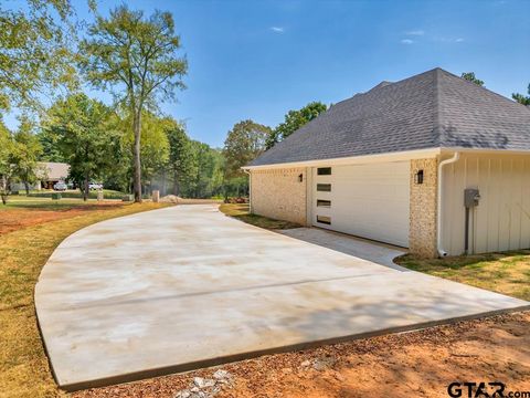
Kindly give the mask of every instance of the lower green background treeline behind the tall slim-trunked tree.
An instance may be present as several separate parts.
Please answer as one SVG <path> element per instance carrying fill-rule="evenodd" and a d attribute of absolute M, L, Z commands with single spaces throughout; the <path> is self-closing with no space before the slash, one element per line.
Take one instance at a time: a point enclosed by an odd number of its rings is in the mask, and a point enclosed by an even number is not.
<path fill-rule="evenodd" d="M 145 111 L 141 115 L 141 192 L 160 190 L 186 198 L 240 197 L 248 193 L 247 176 L 241 169 L 275 143 L 326 111 L 321 103 L 310 103 L 289 111 L 276 128 L 253 121 L 236 123 L 224 147 L 190 139 L 186 125 L 170 116 Z M 0 146 L 9 168 L 3 178 L 30 187 L 44 170 L 40 161 L 66 163 L 68 181 L 88 197 L 88 182 L 131 192 L 134 187 L 134 134 L 130 117 L 119 107 L 77 93 L 56 101 L 40 124 L 22 118 L 17 132 L 0 124 Z"/>

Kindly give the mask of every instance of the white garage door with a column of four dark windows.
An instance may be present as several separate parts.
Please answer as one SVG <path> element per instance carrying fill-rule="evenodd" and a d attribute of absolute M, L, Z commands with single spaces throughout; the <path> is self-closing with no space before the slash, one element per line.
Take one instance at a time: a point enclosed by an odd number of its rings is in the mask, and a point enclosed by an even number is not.
<path fill-rule="evenodd" d="M 312 224 L 409 247 L 410 163 L 312 169 Z"/>

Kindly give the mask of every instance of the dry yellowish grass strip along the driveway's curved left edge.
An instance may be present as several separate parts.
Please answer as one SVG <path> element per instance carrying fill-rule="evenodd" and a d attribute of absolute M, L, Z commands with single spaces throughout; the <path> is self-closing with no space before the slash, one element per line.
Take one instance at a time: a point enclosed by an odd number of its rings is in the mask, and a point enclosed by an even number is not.
<path fill-rule="evenodd" d="M 53 208 L 56 206 L 64 208 Z M 15 203 L 2 208 L 0 223 L 10 214 L 22 214 L 24 211 L 47 211 L 49 217 L 46 222 L 32 226 L 23 222 L 18 229 L 10 229 L 11 232 L 0 234 L 1 397 L 64 395 L 56 388 L 52 378 L 33 303 L 33 290 L 41 269 L 59 243 L 73 232 L 95 222 L 160 207 L 163 205 L 114 203 L 109 207 L 96 202 L 50 205 L 46 201 L 41 208 L 39 206 L 23 208 Z M 66 218 L 65 211 L 68 214 Z M 59 213 L 57 219 L 53 219 L 54 212 Z"/>

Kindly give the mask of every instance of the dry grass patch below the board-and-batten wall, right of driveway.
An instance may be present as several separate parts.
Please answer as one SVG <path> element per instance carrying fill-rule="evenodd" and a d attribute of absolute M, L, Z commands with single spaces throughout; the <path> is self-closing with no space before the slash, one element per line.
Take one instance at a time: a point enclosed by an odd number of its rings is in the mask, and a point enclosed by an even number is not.
<path fill-rule="evenodd" d="M 530 250 L 430 260 L 405 254 L 394 261 L 414 271 L 530 301 Z"/>

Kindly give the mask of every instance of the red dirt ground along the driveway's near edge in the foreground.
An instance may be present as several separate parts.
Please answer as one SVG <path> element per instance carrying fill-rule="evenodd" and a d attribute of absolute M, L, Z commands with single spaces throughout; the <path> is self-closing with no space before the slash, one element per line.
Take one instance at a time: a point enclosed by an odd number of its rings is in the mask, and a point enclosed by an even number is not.
<path fill-rule="evenodd" d="M 508 391 L 530 391 L 530 312 L 269 355 L 220 368 L 233 377 L 216 398 L 449 397 L 447 387 L 453 381 L 501 381 L 508 396 Z M 172 398 L 189 388 L 193 377 L 211 378 L 214 370 L 85 390 L 74 397 Z M 467 397 L 467 390 L 462 397 Z"/>

